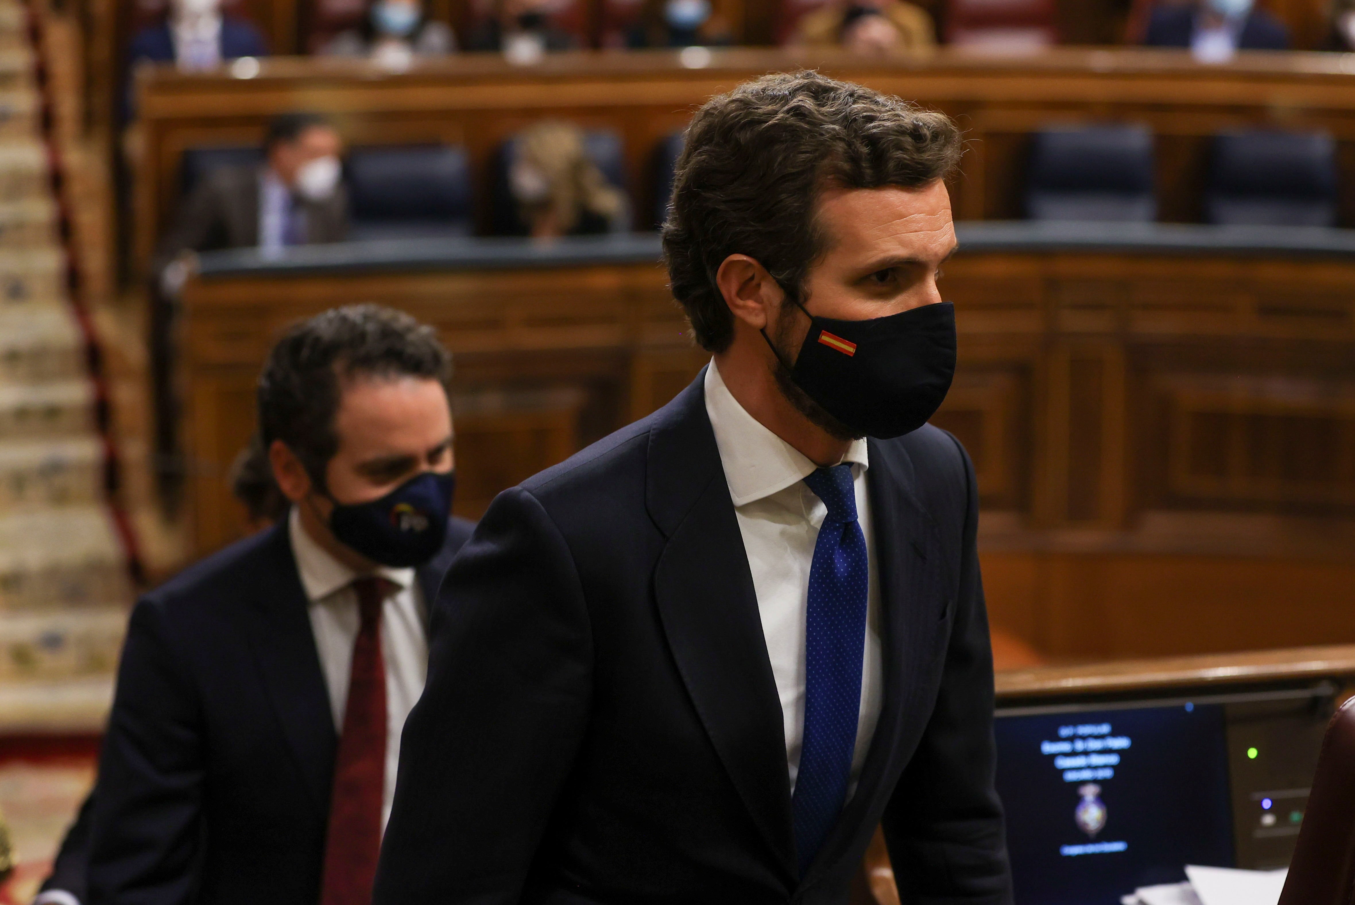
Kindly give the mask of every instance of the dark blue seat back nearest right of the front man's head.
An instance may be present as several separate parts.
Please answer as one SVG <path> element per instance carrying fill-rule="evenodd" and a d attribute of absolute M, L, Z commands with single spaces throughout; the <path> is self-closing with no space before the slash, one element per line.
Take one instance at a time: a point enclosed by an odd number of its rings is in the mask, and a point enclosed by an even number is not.
<path fill-rule="evenodd" d="M 1031 219 L 1150 222 L 1153 134 L 1142 126 L 1083 126 L 1031 137 Z"/>

